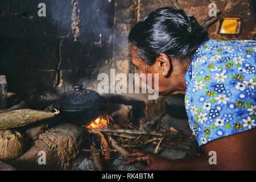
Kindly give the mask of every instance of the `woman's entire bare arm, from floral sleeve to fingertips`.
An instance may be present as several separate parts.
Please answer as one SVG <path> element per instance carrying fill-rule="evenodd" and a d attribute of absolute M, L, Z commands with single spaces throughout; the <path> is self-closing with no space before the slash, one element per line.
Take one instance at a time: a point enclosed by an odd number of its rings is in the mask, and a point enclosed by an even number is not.
<path fill-rule="evenodd" d="M 193 159 L 167 160 L 144 152 L 133 152 L 127 164 L 145 161 L 143 170 L 256 170 L 256 129 L 223 137 L 204 145 L 205 155 Z M 208 163 L 210 151 L 216 152 L 217 164 Z"/>

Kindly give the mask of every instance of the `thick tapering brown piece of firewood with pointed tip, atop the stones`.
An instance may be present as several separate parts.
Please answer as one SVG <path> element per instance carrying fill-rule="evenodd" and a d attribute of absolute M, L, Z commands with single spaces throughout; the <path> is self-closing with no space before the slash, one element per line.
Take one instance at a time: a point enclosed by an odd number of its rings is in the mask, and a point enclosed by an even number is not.
<path fill-rule="evenodd" d="M 30 123 L 52 118 L 55 116 L 55 114 L 59 114 L 59 111 L 51 113 L 40 110 L 20 109 L 1 113 L 0 130 L 26 126 Z"/>

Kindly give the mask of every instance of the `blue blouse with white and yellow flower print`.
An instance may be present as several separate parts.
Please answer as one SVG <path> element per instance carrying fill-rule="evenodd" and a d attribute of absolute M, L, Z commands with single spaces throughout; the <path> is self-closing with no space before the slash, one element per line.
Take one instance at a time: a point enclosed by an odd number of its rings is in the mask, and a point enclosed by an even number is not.
<path fill-rule="evenodd" d="M 199 146 L 256 127 L 255 40 L 201 44 L 185 81 L 185 108 Z"/>

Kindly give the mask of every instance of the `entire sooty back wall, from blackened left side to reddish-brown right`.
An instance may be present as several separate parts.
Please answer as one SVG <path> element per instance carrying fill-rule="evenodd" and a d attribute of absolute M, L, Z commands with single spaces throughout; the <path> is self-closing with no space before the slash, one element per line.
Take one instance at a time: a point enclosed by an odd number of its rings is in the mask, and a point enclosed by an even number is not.
<path fill-rule="evenodd" d="M 46 17 L 38 4 L 46 3 Z M 219 22 L 209 27 L 210 38 L 255 39 L 255 20 L 246 0 L 216 0 L 223 16 L 240 16 L 236 36 L 217 34 Z M 178 0 L 179 6 L 203 20 L 208 0 Z M 8 90 L 24 95 L 64 92 L 72 84 L 97 88 L 97 75 L 116 68 L 133 72 L 127 34 L 131 24 L 170 0 L 0 0 L 0 75 Z M 74 25 L 75 26 L 72 26 Z M 75 28 L 74 28 L 75 27 Z"/>

